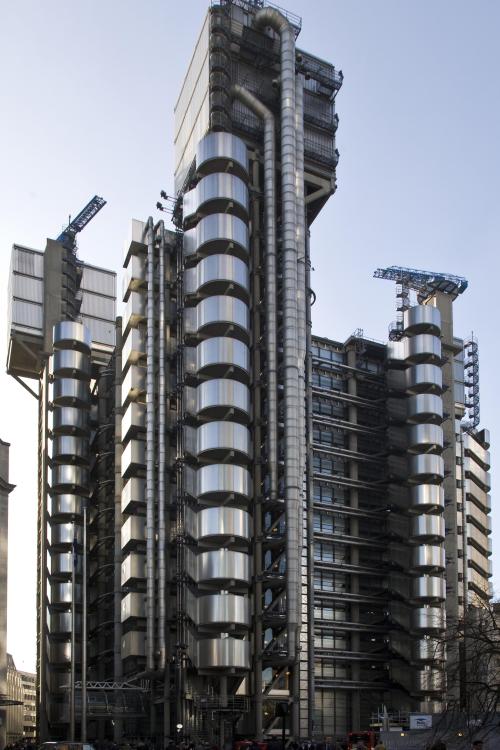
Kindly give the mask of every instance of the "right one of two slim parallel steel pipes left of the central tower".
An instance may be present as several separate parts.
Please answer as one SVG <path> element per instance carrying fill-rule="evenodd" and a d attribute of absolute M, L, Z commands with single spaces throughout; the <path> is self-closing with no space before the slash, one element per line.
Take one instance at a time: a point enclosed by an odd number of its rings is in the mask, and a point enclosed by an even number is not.
<path fill-rule="evenodd" d="M 158 385 L 158 650 L 160 669 L 166 664 L 166 541 L 165 522 L 165 224 L 160 222 L 160 304 L 159 304 L 159 385 Z M 149 403 L 149 401 L 148 401 Z"/>

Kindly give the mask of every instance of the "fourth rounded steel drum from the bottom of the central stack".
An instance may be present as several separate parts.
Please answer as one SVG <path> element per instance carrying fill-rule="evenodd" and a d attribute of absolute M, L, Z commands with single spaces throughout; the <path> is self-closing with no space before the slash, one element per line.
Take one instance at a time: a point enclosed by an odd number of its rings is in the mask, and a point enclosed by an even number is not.
<path fill-rule="evenodd" d="M 198 512 L 186 509 L 186 528 L 198 541 L 214 537 L 235 537 L 249 542 L 252 533 L 252 519 L 249 513 L 240 508 L 214 507 Z"/>

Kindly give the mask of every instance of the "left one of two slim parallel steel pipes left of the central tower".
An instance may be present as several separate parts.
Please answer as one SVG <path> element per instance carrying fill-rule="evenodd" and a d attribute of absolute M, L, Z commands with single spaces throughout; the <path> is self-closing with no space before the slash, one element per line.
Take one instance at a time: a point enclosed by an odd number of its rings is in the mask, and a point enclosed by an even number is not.
<path fill-rule="evenodd" d="M 154 669 L 155 636 L 155 403 L 154 403 L 154 254 L 155 232 L 151 216 L 147 223 L 147 373 L 146 373 L 146 665 Z"/>

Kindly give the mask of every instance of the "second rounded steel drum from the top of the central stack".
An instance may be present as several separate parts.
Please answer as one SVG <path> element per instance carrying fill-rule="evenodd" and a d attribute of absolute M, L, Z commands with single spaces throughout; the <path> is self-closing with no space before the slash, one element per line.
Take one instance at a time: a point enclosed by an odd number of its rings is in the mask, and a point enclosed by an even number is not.
<path fill-rule="evenodd" d="M 232 205 L 231 205 L 232 204 Z M 184 220 L 196 214 L 224 213 L 230 208 L 240 218 L 248 218 L 249 198 L 246 183 L 236 175 L 214 172 L 202 177 L 193 190 L 184 193 L 182 213 Z"/>

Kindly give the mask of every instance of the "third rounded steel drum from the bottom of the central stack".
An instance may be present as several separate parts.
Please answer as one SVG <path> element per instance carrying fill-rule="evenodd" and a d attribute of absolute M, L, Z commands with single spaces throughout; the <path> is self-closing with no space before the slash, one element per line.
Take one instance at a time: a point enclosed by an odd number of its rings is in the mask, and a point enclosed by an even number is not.
<path fill-rule="evenodd" d="M 230 581 L 249 584 L 252 580 L 251 558 L 245 552 L 217 549 L 196 555 L 188 550 L 186 569 L 196 583 Z"/>

